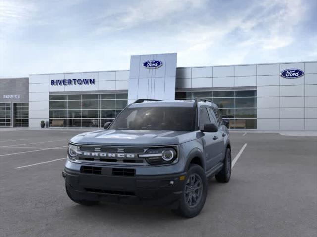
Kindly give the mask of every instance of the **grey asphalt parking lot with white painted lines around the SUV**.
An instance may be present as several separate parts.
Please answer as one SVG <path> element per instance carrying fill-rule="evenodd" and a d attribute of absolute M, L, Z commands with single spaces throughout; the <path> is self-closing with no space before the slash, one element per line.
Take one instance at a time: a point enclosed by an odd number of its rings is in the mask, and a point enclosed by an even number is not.
<path fill-rule="evenodd" d="M 231 133 L 230 182 L 212 178 L 201 214 L 184 219 L 160 207 L 72 202 L 61 171 L 80 132 L 0 129 L 0 236 L 317 236 L 317 137 Z"/>

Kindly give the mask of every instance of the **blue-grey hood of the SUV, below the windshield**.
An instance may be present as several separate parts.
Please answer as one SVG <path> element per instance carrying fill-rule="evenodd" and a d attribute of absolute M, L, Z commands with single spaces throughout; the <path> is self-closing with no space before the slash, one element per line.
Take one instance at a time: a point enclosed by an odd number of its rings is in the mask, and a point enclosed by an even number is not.
<path fill-rule="evenodd" d="M 88 145 L 176 145 L 196 139 L 197 132 L 153 130 L 98 130 L 78 134 L 70 142 Z"/>

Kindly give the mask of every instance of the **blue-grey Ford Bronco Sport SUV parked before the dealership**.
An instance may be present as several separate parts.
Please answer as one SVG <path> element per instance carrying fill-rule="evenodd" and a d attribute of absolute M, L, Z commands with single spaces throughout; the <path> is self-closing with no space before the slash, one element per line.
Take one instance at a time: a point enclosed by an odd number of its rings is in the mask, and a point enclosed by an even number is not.
<path fill-rule="evenodd" d="M 230 179 L 227 126 L 211 101 L 139 99 L 105 123 L 106 130 L 70 139 L 66 192 L 82 205 L 163 205 L 194 217 L 205 204 L 207 178 Z"/>

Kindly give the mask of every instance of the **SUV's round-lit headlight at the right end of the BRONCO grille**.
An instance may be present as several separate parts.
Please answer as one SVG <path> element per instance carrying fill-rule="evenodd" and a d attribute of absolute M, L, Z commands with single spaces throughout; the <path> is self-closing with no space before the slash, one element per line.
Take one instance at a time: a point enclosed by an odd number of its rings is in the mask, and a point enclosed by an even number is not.
<path fill-rule="evenodd" d="M 172 147 L 150 148 L 139 157 L 144 157 L 149 164 L 169 164 L 176 160 L 177 152 Z"/>

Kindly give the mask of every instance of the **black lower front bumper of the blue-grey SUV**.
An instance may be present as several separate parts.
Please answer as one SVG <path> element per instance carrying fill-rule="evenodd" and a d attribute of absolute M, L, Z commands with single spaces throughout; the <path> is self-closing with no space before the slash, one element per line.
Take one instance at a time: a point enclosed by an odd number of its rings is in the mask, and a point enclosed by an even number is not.
<path fill-rule="evenodd" d="M 176 207 L 186 173 L 115 176 L 86 174 L 65 168 L 63 177 L 72 199 Z M 182 177 L 182 178 L 180 178 Z"/>

